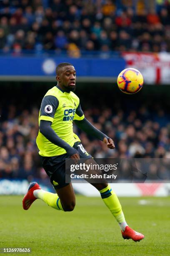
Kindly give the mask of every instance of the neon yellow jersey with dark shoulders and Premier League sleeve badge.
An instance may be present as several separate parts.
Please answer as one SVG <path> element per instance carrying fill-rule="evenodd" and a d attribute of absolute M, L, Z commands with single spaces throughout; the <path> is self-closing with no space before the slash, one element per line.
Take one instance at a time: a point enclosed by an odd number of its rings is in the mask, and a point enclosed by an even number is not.
<path fill-rule="evenodd" d="M 71 147 L 76 141 L 80 141 L 78 136 L 73 133 L 73 120 L 83 120 L 84 115 L 80 107 L 80 100 L 74 92 L 64 92 L 55 86 L 47 91 L 42 99 L 40 120 L 51 121 L 51 128 L 57 135 Z M 59 156 L 65 154 L 61 148 L 50 142 L 45 136 L 38 132 L 37 146 L 41 156 Z"/>

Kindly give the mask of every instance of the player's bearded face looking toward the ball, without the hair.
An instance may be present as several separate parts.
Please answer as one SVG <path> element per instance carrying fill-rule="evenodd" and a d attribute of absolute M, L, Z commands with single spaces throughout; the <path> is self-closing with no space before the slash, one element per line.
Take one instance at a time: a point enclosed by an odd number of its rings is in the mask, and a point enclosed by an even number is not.
<path fill-rule="evenodd" d="M 76 73 L 73 66 L 65 66 L 62 68 L 60 75 L 57 76 L 60 87 L 67 92 L 75 91 Z"/>

